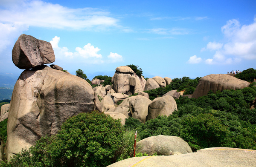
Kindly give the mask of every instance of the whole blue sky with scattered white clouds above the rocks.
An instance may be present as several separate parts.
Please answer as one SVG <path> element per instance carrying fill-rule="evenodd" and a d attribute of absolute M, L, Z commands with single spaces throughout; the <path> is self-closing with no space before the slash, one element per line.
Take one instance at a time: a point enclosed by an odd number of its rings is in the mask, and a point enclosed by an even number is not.
<path fill-rule="evenodd" d="M 255 0 L 0 0 L 0 32 L 1 73 L 23 71 L 12 63 L 21 34 L 91 77 L 128 64 L 172 79 L 256 69 Z"/>

